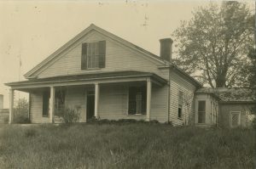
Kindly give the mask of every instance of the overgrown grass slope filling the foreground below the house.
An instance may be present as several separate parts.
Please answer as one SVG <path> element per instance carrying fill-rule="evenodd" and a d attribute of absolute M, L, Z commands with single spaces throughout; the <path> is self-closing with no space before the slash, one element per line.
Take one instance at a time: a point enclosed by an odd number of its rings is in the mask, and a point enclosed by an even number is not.
<path fill-rule="evenodd" d="M 0 168 L 253 168 L 253 130 L 161 124 L 4 126 Z"/>

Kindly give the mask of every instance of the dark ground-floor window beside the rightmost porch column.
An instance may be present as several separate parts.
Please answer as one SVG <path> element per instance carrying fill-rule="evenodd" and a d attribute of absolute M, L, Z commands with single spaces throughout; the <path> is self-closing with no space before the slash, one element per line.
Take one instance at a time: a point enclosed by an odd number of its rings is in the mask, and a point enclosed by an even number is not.
<path fill-rule="evenodd" d="M 130 87 L 129 88 L 129 105 L 128 115 L 145 115 L 147 104 L 146 87 Z"/>

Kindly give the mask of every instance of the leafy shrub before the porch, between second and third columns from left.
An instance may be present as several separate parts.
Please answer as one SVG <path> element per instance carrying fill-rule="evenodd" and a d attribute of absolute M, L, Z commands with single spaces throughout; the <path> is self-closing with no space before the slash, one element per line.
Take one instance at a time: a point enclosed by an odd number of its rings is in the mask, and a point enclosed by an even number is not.
<path fill-rule="evenodd" d="M 74 110 L 71 108 L 65 108 L 63 112 L 60 114 L 60 116 L 62 117 L 65 123 L 78 122 L 80 119 L 79 110 Z"/>

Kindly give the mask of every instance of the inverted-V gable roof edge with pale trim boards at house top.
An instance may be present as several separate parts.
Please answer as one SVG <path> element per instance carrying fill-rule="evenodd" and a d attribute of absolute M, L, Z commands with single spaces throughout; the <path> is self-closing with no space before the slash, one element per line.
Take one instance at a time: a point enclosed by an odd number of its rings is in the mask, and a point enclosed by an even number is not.
<path fill-rule="evenodd" d="M 44 65 L 48 64 L 52 59 L 54 59 L 58 54 L 61 54 L 61 52 L 63 52 L 65 49 L 69 48 L 71 45 L 73 45 L 74 42 L 79 41 L 79 39 L 81 39 L 82 37 L 84 37 L 86 34 L 88 34 L 90 31 L 97 31 L 99 33 L 102 33 L 103 35 L 125 45 L 128 48 L 132 48 L 140 53 L 143 53 L 145 55 L 147 55 L 149 58 L 152 58 L 158 62 L 160 62 L 160 64 L 163 65 L 170 65 L 170 62 L 166 61 L 165 59 L 161 59 L 159 56 L 152 54 L 150 52 L 148 52 L 147 50 L 138 47 L 137 45 L 126 41 L 123 38 L 120 38 L 118 36 L 113 35 L 112 33 L 103 30 L 102 28 L 91 24 L 89 27 L 87 27 L 84 31 L 81 31 L 76 37 L 73 37 L 73 39 L 71 39 L 70 41 L 68 41 L 66 44 L 64 44 L 61 48 L 57 49 L 55 51 L 55 53 L 49 55 L 48 58 L 44 59 L 41 63 L 39 63 L 38 65 L 36 65 L 34 68 L 32 68 L 32 70 L 29 70 L 24 76 L 26 78 L 29 78 L 29 76 L 32 76 L 33 73 L 35 73 L 37 70 L 41 69 Z"/>

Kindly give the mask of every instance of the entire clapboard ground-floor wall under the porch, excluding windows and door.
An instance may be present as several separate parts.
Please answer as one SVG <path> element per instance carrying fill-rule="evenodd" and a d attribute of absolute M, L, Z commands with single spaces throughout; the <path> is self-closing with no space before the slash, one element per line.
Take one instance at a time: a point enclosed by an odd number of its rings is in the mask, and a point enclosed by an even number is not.
<path fill-rule="evenodd" d="M 100 99 L 98 115 L 101 119 L 146 120 L 146 115 L 128 115 L 128 91 L 131 84 L 100 85 Z M 134 83 L 132 84 L 135 85 Z M 146 82 L 145 84 L 146 85 Z M 93 91 L 93 87 L 67 87 L 65 106 L 79 110 L 79 122 L 86 121 L 86 93 Z M 168 86 L 152 86 L 150 119 L 160 122 L 168 120 Z M 43 117 L 43 92 L 31 93 L 31 121 L 32 123 L 48 123 L 49 117 Z"/>

